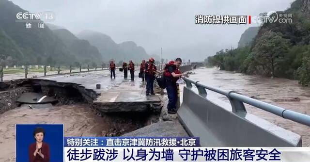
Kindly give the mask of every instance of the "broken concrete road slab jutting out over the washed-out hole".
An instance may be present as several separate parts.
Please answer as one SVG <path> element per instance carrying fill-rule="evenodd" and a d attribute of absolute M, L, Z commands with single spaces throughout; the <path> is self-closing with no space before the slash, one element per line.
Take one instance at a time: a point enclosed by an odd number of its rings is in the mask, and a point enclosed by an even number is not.
<path fill-rule="evenodd" d="M 145 111 L 159 113 L 162 108 L 160 97 L 145 96 L 143 87 L 145 83 L 141 81 L 123 81 L 122 84 L 103 91 L 93 101 L 93 107 L 103 113 Z"/>

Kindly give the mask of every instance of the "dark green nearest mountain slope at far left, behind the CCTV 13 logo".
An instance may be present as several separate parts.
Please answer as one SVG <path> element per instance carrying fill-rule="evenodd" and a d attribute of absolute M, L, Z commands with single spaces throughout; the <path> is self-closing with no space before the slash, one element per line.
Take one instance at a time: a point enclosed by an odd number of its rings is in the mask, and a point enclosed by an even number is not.
<path fill-rule="evenodd" d="M 38 22 L 26 29 L 25 22 L 16 22 L 16 13 L 27 12 L 12 1 L 0 0 L 0 62 L 12 64 L 69 64 L 76 60 L 62 41 L 47 26 Z"/>

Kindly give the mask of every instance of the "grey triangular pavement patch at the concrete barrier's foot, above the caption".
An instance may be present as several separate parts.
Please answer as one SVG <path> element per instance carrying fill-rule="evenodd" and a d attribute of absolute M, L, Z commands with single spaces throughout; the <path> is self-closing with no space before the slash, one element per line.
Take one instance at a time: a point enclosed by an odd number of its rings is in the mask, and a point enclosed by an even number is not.
<path fill-rule="evenodd" d="M 174 120 L 174 121 L 162 121 L 153 123 L 138 130 L 126 133 L 122 136 L 188 137 L 188 134 L 186 133 L 182 125 L 178 122 L 178 120 Z"/>

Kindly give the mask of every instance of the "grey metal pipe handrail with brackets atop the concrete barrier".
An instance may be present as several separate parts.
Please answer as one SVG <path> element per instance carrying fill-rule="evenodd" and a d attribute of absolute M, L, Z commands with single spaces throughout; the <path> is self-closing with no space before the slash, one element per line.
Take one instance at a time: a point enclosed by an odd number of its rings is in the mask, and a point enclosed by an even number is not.
<path fill-rule="evenodd" d="M 211 90 L 213 92 L 222 94 L 226 96 L 232 105 L 233 113 L 239 113 L 239 112 L 247 112 L 246 108 L 244 106 L 244 103 L 247 103 L 249 105 L 255 106 L 259 109 L 262 109 L 264 111 L 276 114 L 278 116 L 281 116 L 285 119 L 290 119 L 292 121 L 295 121 L 300 124 L 304 124 L 307 126 L 310 126 L 310 116 L 303 114 L 303 113 L 297 113 L 291 110 L 283 109 L 275 105 L 271 105 L 269 103 L 253 99 L 251 97 L 243 96 L 241 94 L 236 93 L 235 91 L 225 91 L 223 89 L 213 87 L 213 86 L 207 86 L 201 84 L 199 81 L 193 81 L 189 78 L 183 77 L 184 81 L 186 82 L 186 87 L 191 88 L 192 84 L 196 85 L 199 95 L 202 97 L 207 96 L 206 89 Z"/>

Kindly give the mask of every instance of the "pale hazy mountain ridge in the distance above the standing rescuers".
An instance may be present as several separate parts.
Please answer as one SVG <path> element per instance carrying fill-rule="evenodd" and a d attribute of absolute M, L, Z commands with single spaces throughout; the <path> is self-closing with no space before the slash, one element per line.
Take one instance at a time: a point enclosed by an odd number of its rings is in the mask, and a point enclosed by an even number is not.
<path fill-rule="evenodd" d="M 120 44 L 115 43 L 112 38 L 101 32 L 83 31 L 78 38 L 88 40 L 95 46 L 105 61 L 114 59 L 118 61 L 140 62 L 142 59 L 148 59 L 150 56 L 143 47 L 137 46 L 135 42 L 127 41 Z"/>

